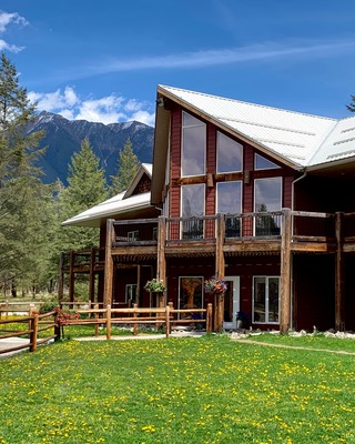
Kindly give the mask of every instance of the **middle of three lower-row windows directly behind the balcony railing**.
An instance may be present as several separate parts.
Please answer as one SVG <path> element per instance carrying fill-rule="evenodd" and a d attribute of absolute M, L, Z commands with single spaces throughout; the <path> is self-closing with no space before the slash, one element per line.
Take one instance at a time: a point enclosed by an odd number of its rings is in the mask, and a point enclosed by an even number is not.
<path fill-rule="evenodd" d="M 225 236 L 239 238 L 241 235 L 241 218 L 232 214 L 242 212 L 242 182 L 217 183 L 217 213 L 225 213 Z M 230 215 L 229 215 L 230 214 Z"/>

